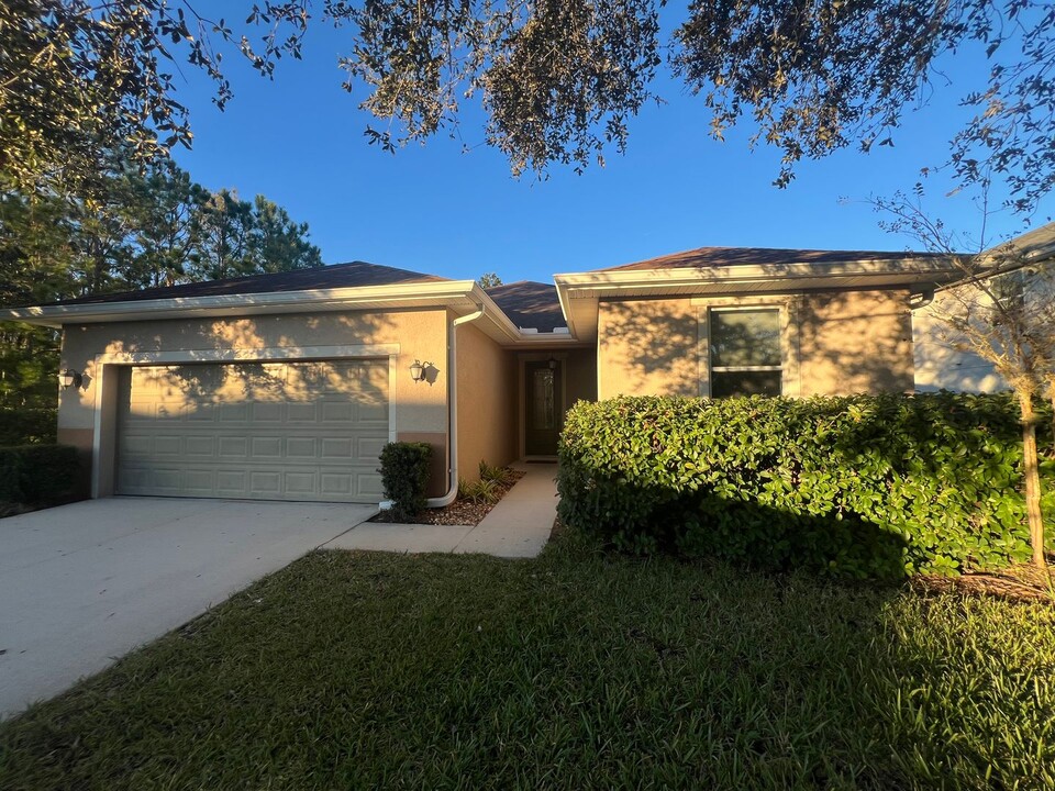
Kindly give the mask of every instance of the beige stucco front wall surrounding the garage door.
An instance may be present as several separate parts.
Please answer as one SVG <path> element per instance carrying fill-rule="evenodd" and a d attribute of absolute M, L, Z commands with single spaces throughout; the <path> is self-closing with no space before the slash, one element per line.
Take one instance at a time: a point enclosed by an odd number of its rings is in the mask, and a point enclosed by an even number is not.
<path fill-rule="evenodd" d="M 98 355 L 190 352 L 209 359 L 232 349 L 265 349 L 320 346 L 398 346 L 393 354 L 396 376 L 390 382 L 390 428 L 398 438 L 414 438 L 434 444 L 437 456 L 446 455 L 447 371 L 446 311 L 406 311 L 388 313 L 319 313 L 271 316 L 198 319 L 189 321 L 123 322 L 67 326 L 64 331 L 62 367 L 85 372 L 79 390 L 68 390 L 59 399 L 58 426 L 62 442 L 89 452 L 95 438 L 96 388 L 99 382 Z M 410 366 L 415 359 L 434 365 L 427 382 L 414 382 Z M 116 377 L 107 376 L 112 390 Z M 108 409 L 100 442 L 107 445 L 108 423 L 112 419 L 115 391 L 103 394 Z M 406 436 L 404 436 L 406 435 Z M 107 493 L 107 475 L 112 475 L 112 458 L 104 453 L 100 476 L 101 493 Z M 442 463 L 445 467 L 445 461 Z M 442 481 L 433 481 L 431 494 L 442 494 Z"/>

